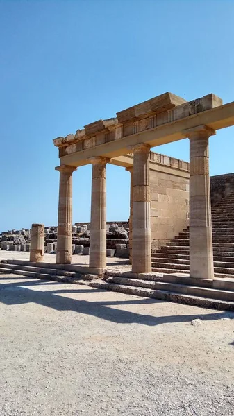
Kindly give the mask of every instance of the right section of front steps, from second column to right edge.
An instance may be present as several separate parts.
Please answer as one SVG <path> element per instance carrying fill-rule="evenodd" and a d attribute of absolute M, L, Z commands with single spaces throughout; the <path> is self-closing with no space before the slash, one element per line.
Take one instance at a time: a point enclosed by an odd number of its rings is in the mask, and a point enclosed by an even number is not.
<path fill-rule="evenodd" d="M 234 280 L 197 281 L 185 276 L 161 273 L 111 272 L 104 279 L 90 281 L 89 286 L 129 295 L 151 297 L 204 308 L 234 311 Z"/>

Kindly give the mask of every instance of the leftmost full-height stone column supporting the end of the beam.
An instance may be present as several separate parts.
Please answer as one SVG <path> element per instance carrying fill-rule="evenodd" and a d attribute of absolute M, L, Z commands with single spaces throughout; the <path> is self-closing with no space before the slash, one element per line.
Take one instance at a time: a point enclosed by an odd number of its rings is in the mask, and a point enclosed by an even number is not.
<path fill-rule="evenodd" d="M 58 198 L 58 236 L 56 263 L 72 263 L 72 173 L 74 166 L 61 165 Z"/>

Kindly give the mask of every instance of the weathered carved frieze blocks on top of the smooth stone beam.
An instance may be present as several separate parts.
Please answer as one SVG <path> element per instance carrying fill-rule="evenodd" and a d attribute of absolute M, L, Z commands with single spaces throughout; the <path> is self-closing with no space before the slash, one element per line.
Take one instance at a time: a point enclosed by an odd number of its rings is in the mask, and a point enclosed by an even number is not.
<path fill-rule="evenodd" d="M 53 144 L 59 148 L 59 157 L 63 157 L 86 149 L 96 148 L 101 144 L 117 141 L 123 137 L 136 135 L 162 124 L 174 123 L 187 116 L 220 105 L 222 105 L 222 99 L 214 94 L 208 94 L 187 102 L 183 98 L 167 92 L 144 101 L 144 103 L 117 112 L 116 118 L 94 121 L 94 123 L 85 125 L 84 129 L 77 130 L 76 134 L 53 139 Z"/>

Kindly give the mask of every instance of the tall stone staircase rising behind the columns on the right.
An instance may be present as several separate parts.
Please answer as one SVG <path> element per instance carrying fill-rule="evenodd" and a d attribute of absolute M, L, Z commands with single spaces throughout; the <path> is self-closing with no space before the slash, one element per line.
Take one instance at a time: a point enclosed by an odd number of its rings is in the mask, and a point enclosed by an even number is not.
<path fill-rule="evenodd" d="M 190 229 L 152 254 L 152 271 L 186 273 L 190 270 Z M 212 240 L 215 277 L 234 279 L 234 193 L 212 205 Z"/>

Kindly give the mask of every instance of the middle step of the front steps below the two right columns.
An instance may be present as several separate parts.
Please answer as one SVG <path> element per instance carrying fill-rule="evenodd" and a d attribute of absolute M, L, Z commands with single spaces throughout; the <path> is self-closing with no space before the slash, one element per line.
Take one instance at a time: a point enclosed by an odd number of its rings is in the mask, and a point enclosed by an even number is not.
<path fill-rule="evenodd" d="M 215 288 L 206 288 L 201 286 L 190 286 L 178 283 L 168 283 L 166 281 L 149 281 L 141 279 L 128 279 L 126 277 L 109 277 L 106 283 L 124 284 L 126 286 L 135 286 L 149 288 L 153 290 L 169 291 L 174 293 L 183 293 L 199 297 L 208 297 L 211 299 L 225 300 L 234 302 L 234 291 L 223 291 Z"/>

